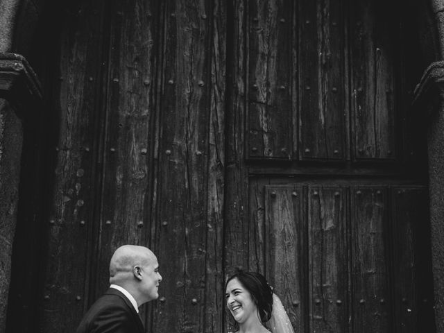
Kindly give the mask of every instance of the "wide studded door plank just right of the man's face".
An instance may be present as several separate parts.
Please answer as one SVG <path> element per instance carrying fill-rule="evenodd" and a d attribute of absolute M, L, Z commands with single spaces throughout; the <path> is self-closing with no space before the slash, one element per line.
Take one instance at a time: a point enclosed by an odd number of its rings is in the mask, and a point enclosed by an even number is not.
<path fill-rule="evenodd" d="M 209 20 L 200 17 L 203 12 L 203 4 L 192 7 L 186 1 L 169 1 L 162 6 L 157 223 L 159 260 L 168 262 L 163 273 L 171 278 L 164 280 L 160 293 L 153 327 L 156 332 L 194 332 L 202 327 L 203 307 L 197 302 L 205 300 L 200 285 L 205 270 L 198 262 L 205 262 L 205 255 L 198 249 L 204 244 L 207 230 L 202 176 L 207 160 L 203 146 L 208 119 L 200 110 L 202 105 L 209 105 L 205 63 L 208 65 L 210 60 L 203 51 L 210 36 Z M 194 306 L 192 300 L 196 300 Z M 170 313 L 176 314 L 175 320 L 171 320 Z"/>

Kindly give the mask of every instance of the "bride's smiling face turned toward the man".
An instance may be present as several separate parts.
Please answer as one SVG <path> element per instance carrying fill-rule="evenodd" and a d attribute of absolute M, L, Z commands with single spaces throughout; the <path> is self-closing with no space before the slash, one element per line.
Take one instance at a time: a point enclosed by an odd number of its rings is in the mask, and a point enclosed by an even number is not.
<path fill-rule="evenodd" d="M 257 317 L 257 307 L 253 298 L 237 278 L 228 282 L 225 298 L 227 307 L 237 323 L 245 323 L 250 316 Z"/>

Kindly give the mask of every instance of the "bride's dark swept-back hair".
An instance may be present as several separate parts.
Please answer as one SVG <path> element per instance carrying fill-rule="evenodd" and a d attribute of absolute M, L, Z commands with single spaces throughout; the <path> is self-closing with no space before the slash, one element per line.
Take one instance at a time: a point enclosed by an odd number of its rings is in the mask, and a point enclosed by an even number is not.
<path fill-rule="evenodd" d="M 262 323 L 269 321 L 271 310 L 273 309 L 273 289 L 266 282 L 264 275 L 243 271 L 236 273 L 225 282 L 225 290 L 227 289 L 228 282 L 234 279 L 237 279 L 242 284 L 242 287 L 250 293 Z"/>

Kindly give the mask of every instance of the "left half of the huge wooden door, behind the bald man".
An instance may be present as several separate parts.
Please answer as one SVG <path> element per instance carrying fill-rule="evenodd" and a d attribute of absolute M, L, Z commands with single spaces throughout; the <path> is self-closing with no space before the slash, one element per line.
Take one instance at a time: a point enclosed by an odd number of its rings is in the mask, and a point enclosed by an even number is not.
<path fill-rule="evenodd" d="M 8 330 L 74 332 L 108 288 L 114 250 L 140 244 L 164 277 L 147 332 L 221 332 L 225 1 L 48 11 L 42 253 L 37 270 L 15 270 Z"/>

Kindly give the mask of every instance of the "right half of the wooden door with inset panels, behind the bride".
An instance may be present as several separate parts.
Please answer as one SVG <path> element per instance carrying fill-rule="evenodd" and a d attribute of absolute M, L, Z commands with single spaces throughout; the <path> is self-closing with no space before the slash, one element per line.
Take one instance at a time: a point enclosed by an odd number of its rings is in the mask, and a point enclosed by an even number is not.
<path fill-rule="evenodd" d="M 226 271 L 264 273 L 296 332 L 434 332 L 420 70 L 399 8 L 233 8 Z"/>

